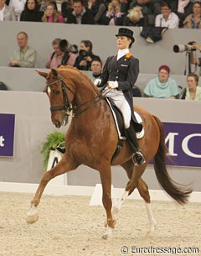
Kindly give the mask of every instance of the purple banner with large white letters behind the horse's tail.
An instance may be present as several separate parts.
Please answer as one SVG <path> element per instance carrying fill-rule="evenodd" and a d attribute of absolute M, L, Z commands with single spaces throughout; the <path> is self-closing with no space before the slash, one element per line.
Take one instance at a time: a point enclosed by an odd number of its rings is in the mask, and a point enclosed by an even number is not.
<path fill-rule="evenodd" d="M 168 165 L 201 167 L 201 124 L 163 123 L 173 162 Z"/>

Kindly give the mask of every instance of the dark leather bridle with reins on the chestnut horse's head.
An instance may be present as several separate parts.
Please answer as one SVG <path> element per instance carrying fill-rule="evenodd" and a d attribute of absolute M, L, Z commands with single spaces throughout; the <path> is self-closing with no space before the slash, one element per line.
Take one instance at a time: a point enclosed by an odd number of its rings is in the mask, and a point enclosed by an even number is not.
<path fill-rule="evenodd" d="M 80 105 L 75 105 L 74 107 L 71 106 L 69 98 L 68 98 L 68 94 L 66 92 L 65 89 L 69 90 L 73 95 L 75 95 L 75 91 L 73 91 L 70 86 L 66 85 L 64 80 L 62 79 L 62 77 L 60 77 L 58 80 L 47 83 L 46 88 L 49 87 L 51 88 L 52 85 L 54 85 L 55 83 L 60 82 L 60 86 L 61 86 L 61 90 L 63 93 L 63 102 L 64 105 L 63 106 L 56 106 L 56 107 L 50 107 L 50 111 L 51 112 L 56 112 L 56 111 L 60 111 L 60 110 L 64 110 L 65 111 L 65 115 L 70 116 L 70 112 L 73 111 L 72 113 L 72 117 L 76 117 L 78 115 L 80 115 L 80 113 L 85 112 L 86 110 L 90 109 L 91 107 L 94 107 L 94 105 L 97 102 L 100 102 L 103 98 L 104 95 L 101 92 L 100 94 L 98 94 L 96 97 L 92 98 L 90 101 L 86 101 L 81 103 Z M 85 107 L 84 109 L 82 109 L 81 111 L 79 111 L 79 108 L 82 106 L 85 106 L 88 103 L 92 103 L 89 107 Z"/>

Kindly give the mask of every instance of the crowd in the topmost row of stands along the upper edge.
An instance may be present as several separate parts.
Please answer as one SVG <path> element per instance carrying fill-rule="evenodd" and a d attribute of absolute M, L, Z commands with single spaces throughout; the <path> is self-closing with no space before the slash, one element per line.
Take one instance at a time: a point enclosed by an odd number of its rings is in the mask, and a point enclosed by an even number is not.
<path fill-rule="evenodd" d="M 201 29 L 201 1 L 1 0 L 3 20 Z"/>

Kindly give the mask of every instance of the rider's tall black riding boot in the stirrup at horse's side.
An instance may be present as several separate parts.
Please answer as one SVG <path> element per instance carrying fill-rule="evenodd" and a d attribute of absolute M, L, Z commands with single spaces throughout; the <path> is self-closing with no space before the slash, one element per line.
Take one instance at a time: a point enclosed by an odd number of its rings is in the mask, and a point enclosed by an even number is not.
<path fill-rule="evenodd" d="M 131 151 L 134 153 L 133 155 L 133 161 L 135 165 L 144 165 L 145 164 L 145 159 L 142 154 L 142 152 L 139 149 L 139 144 L 137 141 L 137 135 L 131 126 L 127 129 L 125 129 L 126 132 L 126 138 L 128 141 L 128 144 L 130 146 Z"/>

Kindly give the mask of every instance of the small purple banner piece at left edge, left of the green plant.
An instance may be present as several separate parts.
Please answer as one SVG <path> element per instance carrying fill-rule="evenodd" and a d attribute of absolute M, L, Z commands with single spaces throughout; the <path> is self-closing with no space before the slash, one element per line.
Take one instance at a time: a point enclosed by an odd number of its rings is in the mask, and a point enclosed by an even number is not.
<path fill-rule="evenodd" d="M 14 114 L 0 114 L 0 156 L 13 156 Z"/>

